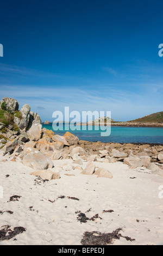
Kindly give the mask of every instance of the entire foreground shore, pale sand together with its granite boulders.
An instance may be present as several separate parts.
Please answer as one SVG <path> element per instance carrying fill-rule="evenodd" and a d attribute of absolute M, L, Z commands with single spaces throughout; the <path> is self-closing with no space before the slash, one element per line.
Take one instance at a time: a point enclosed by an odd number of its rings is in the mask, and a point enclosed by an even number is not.
<path fill-rule="evenodd" d="M 42 129 L 29 105 L 19 111 L 16 100 L 3 98 L 0 106 L 3 245 L 162 242 L 163 145 L 87 142 L 70 132 L 59 136 Z M 104 244 L 96 236 L 92 243 L 96 230 L 101 237 L 125 234 Z"/>

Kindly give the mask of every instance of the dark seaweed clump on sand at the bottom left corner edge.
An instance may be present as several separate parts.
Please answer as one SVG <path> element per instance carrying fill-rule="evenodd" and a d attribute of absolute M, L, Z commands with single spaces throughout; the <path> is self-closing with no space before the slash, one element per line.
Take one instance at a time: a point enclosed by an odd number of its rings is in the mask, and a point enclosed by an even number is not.
<path fill-rule="evenodd" d="M 2 226 L 0 230 L 0 241 L 10 240 L 25 231 L 26 229 L 23 227 L 15 227 L 11 229 L 10 225 Z"/>

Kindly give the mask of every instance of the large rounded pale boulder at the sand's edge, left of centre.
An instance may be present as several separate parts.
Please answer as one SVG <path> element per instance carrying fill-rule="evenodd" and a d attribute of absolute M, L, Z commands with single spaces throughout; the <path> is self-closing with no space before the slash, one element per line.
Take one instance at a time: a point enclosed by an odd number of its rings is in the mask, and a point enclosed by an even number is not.
<path fill-rule="evenodd" d="M 26 154 L 23 157 L 24 166 L 28 166 L 35 170 L 45 170 L 48 168 L 53 168 L 53 162 L 49 157 L 42 154 L 39 150 L 28 148 L 26 149 Z"/>

